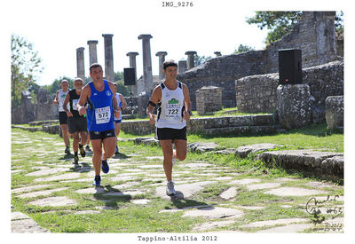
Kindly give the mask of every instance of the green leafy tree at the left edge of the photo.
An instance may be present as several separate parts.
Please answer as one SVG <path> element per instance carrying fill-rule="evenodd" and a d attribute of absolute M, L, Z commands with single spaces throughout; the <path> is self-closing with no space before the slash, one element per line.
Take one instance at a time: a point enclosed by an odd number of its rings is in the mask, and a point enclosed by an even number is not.
<path fill-rule="evenodd" d="M 42 59 L 33 44 L 18 35 L 12 35 L 12 108 L 20 106 L 21 91 L 35 87 L 37 75 L 42 73 Z"/>

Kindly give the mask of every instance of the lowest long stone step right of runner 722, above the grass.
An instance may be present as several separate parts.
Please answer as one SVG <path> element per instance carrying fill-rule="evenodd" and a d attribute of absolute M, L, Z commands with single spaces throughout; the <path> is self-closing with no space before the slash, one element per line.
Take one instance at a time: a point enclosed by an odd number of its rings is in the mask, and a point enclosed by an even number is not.
<path fill-rule="evenodd" d="M 273 126 L 233 126 L 224 128 L 210 128 L 204 130 L 206 135 L 217 136 L 222 134 L 233 135 L 259 135 L 259 134 L 272 134 L 276 131 Z"/>

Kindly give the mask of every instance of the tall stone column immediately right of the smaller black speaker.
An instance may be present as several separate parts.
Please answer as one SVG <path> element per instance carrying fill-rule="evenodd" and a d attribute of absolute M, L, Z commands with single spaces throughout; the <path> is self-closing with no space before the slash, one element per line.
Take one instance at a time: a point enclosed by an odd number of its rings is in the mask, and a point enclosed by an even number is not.
<path fill-rule="evenodd" d="M 152 35 L 138 35 L 138 40 L 142 40 L 143 49 L 143 82 L 145 84 L 145 91 L 150 91 L 153 87 L 152 74 L 152 57 L 150 51 L 150 38 Z"/>

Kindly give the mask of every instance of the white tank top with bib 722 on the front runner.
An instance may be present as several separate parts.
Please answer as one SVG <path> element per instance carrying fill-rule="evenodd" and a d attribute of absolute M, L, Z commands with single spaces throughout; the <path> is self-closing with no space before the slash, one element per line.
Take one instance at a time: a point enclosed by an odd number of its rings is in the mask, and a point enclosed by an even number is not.
<path fill-rule="evenodd" d="M 157 128 L 183 129 L 186 122 L 183 119 L 185 110 L 185 98 L 182 83 L 177 82 L 177 89 L 170 91 L 164 83 L 161 83 L 162 100 L 158 103 Z"/>

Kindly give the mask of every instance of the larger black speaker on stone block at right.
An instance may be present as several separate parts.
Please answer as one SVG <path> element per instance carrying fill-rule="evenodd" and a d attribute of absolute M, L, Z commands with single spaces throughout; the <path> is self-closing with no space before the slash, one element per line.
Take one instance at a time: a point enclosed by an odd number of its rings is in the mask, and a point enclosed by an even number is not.
<path fill-rule="evenodd" d="M 302 83 L 302 52 L 300 49 L 279 50 L 279 84 Z"/>

